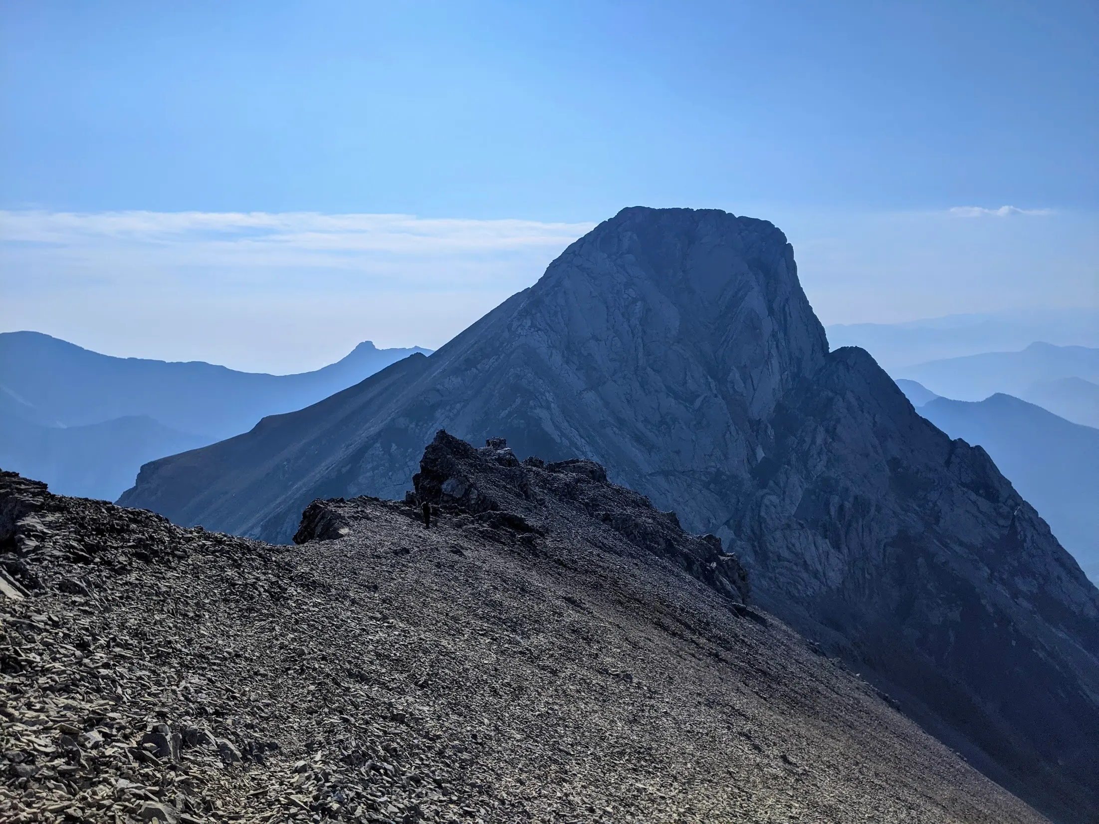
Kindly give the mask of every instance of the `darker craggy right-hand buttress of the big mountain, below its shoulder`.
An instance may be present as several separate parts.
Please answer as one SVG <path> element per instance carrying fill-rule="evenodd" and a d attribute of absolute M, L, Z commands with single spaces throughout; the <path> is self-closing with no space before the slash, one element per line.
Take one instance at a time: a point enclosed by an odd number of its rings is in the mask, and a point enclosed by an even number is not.
<path fill-rule="evenodd" d="M 732 525 L 759 601 L 987 775 L 1095 820 L 1099 593 L 1045 522 L 862 349 L 829 355 L 773 423 Z"/>

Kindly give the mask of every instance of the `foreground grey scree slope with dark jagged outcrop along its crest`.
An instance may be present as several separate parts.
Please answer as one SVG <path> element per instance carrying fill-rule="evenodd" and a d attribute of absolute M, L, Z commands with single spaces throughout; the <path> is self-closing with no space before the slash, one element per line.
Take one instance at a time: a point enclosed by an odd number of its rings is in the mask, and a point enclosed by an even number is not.
<path fill-rule="evenodd" d="M 4 822 L 1044 821 L 591 461 L 440 433 L 297 546 L 4 472 L 0 541 Z"/>

